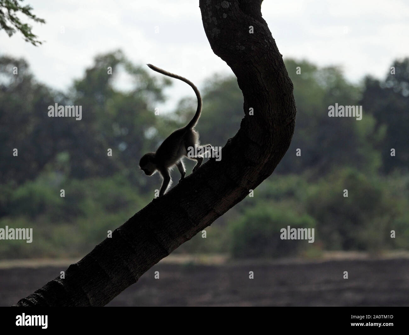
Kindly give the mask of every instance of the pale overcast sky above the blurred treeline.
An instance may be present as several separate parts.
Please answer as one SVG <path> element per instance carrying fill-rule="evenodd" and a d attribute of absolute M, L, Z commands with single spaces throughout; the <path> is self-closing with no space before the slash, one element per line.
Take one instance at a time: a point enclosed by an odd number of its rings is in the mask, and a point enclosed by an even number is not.
<path fill-rule="evenodd" d="M 211 51 L 198 0 L 23 3 L 46 20 L 33 24 L 34 34 L 46 42 L 34 47 L 19 33 L 9 38 L 0 31 L 0 54 L 24 57 L 36 78 L 54 88 L 67 89 L 96 54 L 115 49 L 134 63 L 186 76 L 199 88 L 214 72 L 232 73 Z M 395 58 L 409 56 L 409 0 L 264 0 L 261 9 L 284 58 L 340 65 L 353 82 L 365 74 L 383 78 Z M 169 109 L 193 93 L 178 83 L 166 94 L 172 97 Z"/>

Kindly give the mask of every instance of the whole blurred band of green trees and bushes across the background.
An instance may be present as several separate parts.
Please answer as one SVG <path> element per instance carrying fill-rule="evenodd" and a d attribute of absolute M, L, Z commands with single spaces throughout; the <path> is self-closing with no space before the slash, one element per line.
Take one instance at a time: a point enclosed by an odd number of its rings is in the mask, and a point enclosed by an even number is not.
<path fill-rule="evenodd" d="M 254 197 L 207 227 L 206 238 L 200 232 L 176 252 L 269 258 L 408 249 L 408 63 L 396 61 L 398 76 L 367 78 L 360 87 L 337 67 L 287 60 L 298 108 L 288 152 Z M 128 89 L 117 85 L 124 76 Z M 160 180 L 140 173 L 139 157 L 196 109 L 189 97 L 172 115 L 156 116 L 170 83 L 115 51 L 97 56 L 68 92 L 58 92 L 38 83 L 24 60 L 0 58 L 0 228 L 34 231 L 31 244 L 1 240 L 1 258 L 80 257 L 151 201 Z M 201 91 L 201 141 L 224 146 L 244 116 L 236 78 L 213 76 Z M 82 120 L 48 117 L 54 103 L 81 105 Z M 329 118 L 335 103 L 362 104 L 362 120 Z M 288 225 L 314 227 L 315 242 L 282 241 L 280 229 Z"/>

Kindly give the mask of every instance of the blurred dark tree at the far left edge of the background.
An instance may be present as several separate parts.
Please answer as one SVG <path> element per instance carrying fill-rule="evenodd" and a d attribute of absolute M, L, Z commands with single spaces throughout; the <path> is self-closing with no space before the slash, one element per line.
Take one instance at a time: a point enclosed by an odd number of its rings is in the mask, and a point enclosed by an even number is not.
<path fill-rule="evenodd" d="M 0 184 L 13 187 L 35 178 L 57 153 L 63 139 L 47 107 L 65 97 L 37 83 L 23 59 L 1 57 L 0 78 Z"/>

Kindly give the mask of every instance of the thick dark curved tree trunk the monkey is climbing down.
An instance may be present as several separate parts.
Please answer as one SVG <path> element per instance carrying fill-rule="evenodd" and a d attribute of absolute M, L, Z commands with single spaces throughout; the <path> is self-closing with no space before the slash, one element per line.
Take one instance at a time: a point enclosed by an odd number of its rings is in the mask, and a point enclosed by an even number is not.
<path fill-rule="evenodd" d="M 244 96 L 245 117 L 222 148 L 222 160 L 209 160 L 70 265 L 65 279 L 57 277 L 17 306 L 107 304 L 271 175 L 290 145 L 296 106 L 282 55 L 261 16 L 261 1 L 200 0 L 211 48 L 236 74 Z"/>

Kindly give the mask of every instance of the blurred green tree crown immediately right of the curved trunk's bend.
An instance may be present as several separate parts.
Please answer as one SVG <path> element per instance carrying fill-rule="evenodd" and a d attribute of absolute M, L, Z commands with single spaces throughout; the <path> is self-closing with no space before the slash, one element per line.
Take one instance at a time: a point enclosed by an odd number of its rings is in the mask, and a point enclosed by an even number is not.
<path fill-rule="evenodd" d="M 297 67 L 301 74 L 297 74 Z M 297 122 L 290 148 L 276 168 L 278 173 L 300 173 L 313 169 L 316 175 L 329 173 L 340 166 L 353 165 L 375 172 L 380 155 L 373 142 L 380 141 L 371 116 L 355 118 L 328 117 L 328 107 L 358 105 L 360 88 L 348 83 L 337 67 L 317 68 L 308 61 L 286 60 L 294 83 Z M 363 111 L 365 113 L 365 110 Z M 301 149 L 301 157 L 296 149 Z"/>

